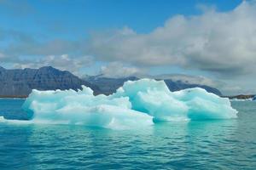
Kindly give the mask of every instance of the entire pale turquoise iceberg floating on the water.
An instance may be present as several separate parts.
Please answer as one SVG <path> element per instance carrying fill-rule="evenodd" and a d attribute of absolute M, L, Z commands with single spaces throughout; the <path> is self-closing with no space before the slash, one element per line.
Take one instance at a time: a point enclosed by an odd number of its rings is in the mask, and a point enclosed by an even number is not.
<path fill-rule="evenodd" d="M 156 121 L 236 118 L 229 99 L 202 88 L 171 92 L 164 81 L 141 79 L 125 82 L 115 94 L 93 95 L 90 88 L 38 91 L 22 108 L 32 121 L 71 123 L 107 128 L 143 127 Z"/>

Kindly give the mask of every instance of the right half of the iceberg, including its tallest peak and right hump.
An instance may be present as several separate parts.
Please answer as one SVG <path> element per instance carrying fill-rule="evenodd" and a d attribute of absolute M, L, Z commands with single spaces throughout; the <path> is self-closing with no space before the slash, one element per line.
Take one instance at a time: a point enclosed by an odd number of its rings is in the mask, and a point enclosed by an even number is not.
<path fill-rule="evenodd" d="M 207 93 L 203 88 L 170 92 L 164 81 L 141 79 L 125 82 L 112 97 L 128 97 L 131 109 L 154 116 L 155 120 L 204 120 L 236 118 L 230 100 Z"/>

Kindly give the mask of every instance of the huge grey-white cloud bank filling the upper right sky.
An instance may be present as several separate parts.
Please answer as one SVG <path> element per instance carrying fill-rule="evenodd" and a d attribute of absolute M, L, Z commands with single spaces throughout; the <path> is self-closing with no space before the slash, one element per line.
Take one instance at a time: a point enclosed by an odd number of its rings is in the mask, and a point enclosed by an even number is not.
<path fill-rule="evenodd" d="M 256 3 L 241 3 L 229 12 L 214 8 L 195 16 L 177 15 L 148 34 L 131 28 L 91 37 L 97 59 L 133 65 L 179 65 L 243 75 L 256 64 Z"/>

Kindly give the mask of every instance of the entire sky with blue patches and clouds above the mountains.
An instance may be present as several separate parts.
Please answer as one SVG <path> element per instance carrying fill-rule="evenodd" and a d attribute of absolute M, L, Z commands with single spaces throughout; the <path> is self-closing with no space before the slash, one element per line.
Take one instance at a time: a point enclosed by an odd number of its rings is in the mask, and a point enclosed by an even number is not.
<path fill-rule="evenodd" d="M 255 0 L 0 0 L 0 65 L 256 94 L 255 23 Z"/>

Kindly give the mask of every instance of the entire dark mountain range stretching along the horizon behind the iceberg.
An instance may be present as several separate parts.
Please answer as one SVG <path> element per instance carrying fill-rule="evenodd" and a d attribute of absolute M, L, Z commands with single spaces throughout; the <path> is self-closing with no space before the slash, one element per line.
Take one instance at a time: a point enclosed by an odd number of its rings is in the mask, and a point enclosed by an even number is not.
<path fill-rule="evenodd" d="M 80 89 L 82 85 L 94 90 L 94 94 L 113 94 L 124 82 L 138 80 L 138 77 L 111 78 L 98 76 L 86 76 L 79 78 L 69 71 L 60 71 L 51 66 L 39 69 L 13 69 L 7 70 L 0 66 L 0 96 L 1 97 L 26 97 L 32 89 Z M 157 79 L 157 78 L 156 78 Z M 160 79 L 157 79 L 160 80 Z M 207 85 L 182 82 L 172 79 L 164 79 L 171 91 L 184 88 L 205 88 L 208 92 L 221 95 L 217 88 Z"/>

